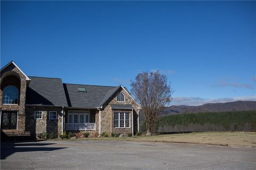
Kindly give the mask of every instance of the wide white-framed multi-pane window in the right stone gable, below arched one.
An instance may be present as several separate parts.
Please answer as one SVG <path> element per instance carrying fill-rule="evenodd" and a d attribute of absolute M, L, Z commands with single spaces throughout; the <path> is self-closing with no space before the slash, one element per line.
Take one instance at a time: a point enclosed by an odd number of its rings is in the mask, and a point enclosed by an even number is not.
<path fill-rule="evenodd" d="M 116 128 L 130 127 L 130 113 L 115 112 L 114 127 Z"/>

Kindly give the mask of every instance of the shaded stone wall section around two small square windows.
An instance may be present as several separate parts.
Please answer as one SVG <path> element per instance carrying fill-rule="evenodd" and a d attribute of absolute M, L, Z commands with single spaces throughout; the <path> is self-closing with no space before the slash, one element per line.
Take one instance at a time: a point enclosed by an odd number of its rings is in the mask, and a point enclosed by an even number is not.
<path fill-rule="evenodd" d="M 42 111 L 42 119 L 35 119 L 35 111 Z M 58 119 L 49 119 L 49 111 L 57 111 Z M 62 107 L 26 106 L 26 131 L 35 136 L 38 133 L 61 133 Z"/>

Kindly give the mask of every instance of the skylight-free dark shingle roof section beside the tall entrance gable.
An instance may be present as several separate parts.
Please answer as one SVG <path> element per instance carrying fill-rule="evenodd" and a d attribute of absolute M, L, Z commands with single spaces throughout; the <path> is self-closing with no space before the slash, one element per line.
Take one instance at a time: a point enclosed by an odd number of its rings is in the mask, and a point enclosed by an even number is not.
<path fill-rule="evenodd" d="M 60 78 L 29 77 L 26 104 L 68 106 Z"/>

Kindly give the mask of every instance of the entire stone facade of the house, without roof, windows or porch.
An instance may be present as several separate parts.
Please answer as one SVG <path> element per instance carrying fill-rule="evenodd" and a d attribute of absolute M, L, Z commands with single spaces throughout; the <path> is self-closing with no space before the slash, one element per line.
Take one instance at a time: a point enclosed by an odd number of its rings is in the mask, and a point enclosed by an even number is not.
<path fill-rule="evenodd" d="M 60 134 L 65 131 L 65 125 L 68 123 L 68 111 L 69 110 L 86 110 L 86 109 L 72 109 L 64 108 L 65 117 L 63 120 L 64 125 L 62 125 L 62 107 L 54 106 L 31 106 L 26 105 L 26 90 L 29 84 L 26 75 L 15 66 L 15 64 L 10 63 L 9 66 L 1 71 L 1 88 L 0 88 L 0 110 L 1 111 L 17 111 L 17 129 L 1 129 L 5 134 L 12 133 L 16 135 L 28 134 L 36 136 L 39 133 L 55 133 Z M 3 104 L 3 90 L 6 86 L 15 86 L 19 91 L 18 104 Z M 124 102 L 117 102 L 116 95 L 118 93 L 123 93 L 125 97 Z M 110 104 L 131 104 L 134 108 L 132 110 L 112 110 Z M 137 118 L 138 118 L 138 104 L 131 98 L 131 96 L 120 87 L 119 90 L 111 96 L 111 98 L 102 106 L 101 108 L 101 122 L 99 122 L 99 110 L 98 109 L 87 109 L 90 111 L 90 123 L 96 124 L 96 131 L 99 132 L 99 125 L 101 125 L 101 133 L 134 133 L 137 131 Z M 35 111 L 42 111 L 42 119 L 35 119 Z M 57 111 L 57 119 L 49 119 L 49 111 Z M 129 128 L 115 128 L 114 127 L 114 112 L 129 112 L 130 113 L 130 127 Z M 133 125 L 133 126 L 132 126 Z M 9 126 L 10 128 L 10 126 Z M 133 131 L 132 131 L 133 129 Z"/>

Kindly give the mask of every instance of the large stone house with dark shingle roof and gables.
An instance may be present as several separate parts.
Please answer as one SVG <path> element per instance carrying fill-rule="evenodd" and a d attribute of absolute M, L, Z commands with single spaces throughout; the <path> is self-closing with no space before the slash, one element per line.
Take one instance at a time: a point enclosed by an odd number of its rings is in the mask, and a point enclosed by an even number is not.
<path fill-rule="evenodd" d="M 123 86 L 62 83 L 27 76 L 13 61 L 1 69 L 1 132 L 6 135 L 64 131 L 135 133 L 138 103 Z"/>

